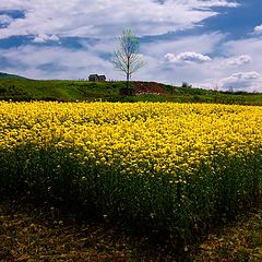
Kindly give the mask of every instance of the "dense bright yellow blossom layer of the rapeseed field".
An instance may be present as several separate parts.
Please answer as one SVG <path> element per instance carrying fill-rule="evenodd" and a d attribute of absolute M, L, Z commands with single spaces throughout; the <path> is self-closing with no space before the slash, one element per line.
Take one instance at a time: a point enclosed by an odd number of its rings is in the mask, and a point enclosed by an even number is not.
<path fill-rule="evenodd" d="M 190 175 L 214 156 L 262 147 L 262 107 L 0 103 L 0 147 L 28 143 L 73 147 L 83 159 L 120 165 L 122 174 Z"/>

